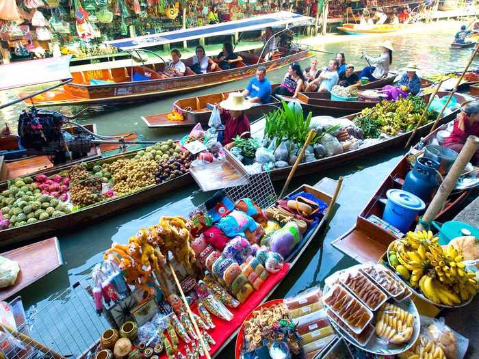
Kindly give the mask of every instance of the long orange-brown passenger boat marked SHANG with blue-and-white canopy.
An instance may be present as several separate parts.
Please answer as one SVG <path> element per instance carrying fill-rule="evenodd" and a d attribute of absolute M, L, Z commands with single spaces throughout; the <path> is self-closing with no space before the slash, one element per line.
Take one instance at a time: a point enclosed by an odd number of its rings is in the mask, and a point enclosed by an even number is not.
<path fill-rule="evenodd" d="M 291 12 L 277 12 L 228 23 L 168 31 L 137 38 L 112 40 L 107 43 L 119 49 L 138 54 L 141 49 L 146 51 L 144 48 L 149 46 L 195 40 L 206 36 L 224 36 L 239 31 L 261 30 L 266 26 L 304 25 L 313 20 L 308 16 Z M 71 83 L 65 84 L 62 88 L 46 92 L 41 96 L 36 96 L 32 101 L 36 106 L 137 102 L 147 98 L 177 94 L 236 81 L 237 79 L 250 78 L 255 76 L 256 68 L 260 65 L 266 66 L 267 70 L 272 70 L 314 55 L 308 49 L 300 49 L 294 46 L 291 48 L 280 46 L 277 55 L 273 55 L 272 59 L 268 60 L 255 55 L 252 51 L 240 51 L 237 54 L 242 57 L 243 61 L 237 62 L 235 67 L 229 70 L 216 68 L 217 70 L 196 75 L 187 67 L 183 77 L 164 78 L 161 72 L 166 69 L 166 62 L 156 53 L 152 51 L 148 51 L 148 53 L 152 53 L 159 59 L 149 62 L 143 62 L 143 60 L 127 62 L 125 64 L 115 61 L 94 64 L 79 71 L 74 69 Z M 192 65 L 192 57 L 182 59 L 182 61 L 186 66 Z M 21 94 L 21 96 L 24 95 L 25 92 Z"/>

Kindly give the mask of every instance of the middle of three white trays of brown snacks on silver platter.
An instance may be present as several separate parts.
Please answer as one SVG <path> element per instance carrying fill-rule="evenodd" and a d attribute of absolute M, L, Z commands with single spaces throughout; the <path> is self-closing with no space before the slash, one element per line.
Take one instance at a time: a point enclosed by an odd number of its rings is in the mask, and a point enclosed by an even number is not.
<path fill-rule="evenodd" d="M 339 281 L 373 312 L 387 300 L 387 295 L 360 271 L 347 271 Z"/>

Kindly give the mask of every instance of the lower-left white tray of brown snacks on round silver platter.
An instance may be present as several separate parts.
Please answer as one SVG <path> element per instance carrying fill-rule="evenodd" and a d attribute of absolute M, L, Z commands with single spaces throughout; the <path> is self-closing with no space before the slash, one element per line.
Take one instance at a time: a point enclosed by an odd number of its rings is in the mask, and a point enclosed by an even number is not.
<path fill-rule="evenodd" d="M 323 302 L 355 333 L 361 333 L 372 320 L 372 312 L 339 284 L 328 291 Z"/>

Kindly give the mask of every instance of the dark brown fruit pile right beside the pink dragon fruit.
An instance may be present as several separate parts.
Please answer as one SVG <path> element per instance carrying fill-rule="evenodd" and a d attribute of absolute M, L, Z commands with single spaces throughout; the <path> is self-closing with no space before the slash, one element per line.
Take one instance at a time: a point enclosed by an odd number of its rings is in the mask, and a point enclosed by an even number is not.
<path fill-rule="evenodd" d="M 70 178 L 70 200 L 77 207 L 85 207 L 103 199 L 101 181 L 92 176 L 86 166 L 78 163 L 68 170 Z"/>

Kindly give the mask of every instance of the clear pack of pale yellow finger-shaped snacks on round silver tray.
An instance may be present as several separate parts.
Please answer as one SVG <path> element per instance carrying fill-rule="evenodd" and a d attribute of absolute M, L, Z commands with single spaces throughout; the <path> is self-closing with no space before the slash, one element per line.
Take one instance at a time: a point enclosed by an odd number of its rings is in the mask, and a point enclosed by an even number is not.
<path fill-rule="evenodd" d="M 381 306 L 376 318 L 376 335 L 393 344 L 406 343 L 414 332 L 414 317 L 393 304 Z"/>

